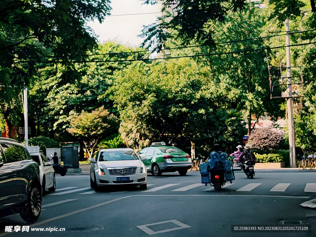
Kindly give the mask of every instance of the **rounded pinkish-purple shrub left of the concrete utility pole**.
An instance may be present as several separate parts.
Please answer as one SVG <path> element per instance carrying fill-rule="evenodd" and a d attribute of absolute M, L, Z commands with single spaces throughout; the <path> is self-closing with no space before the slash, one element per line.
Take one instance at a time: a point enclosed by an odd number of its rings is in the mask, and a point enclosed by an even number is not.
<path fill-rule="evenodd" d="M 279 149 L 283 138 L 283 132 L 279 129 L 259 128 L 252 131 L 248 138 L 248 144 L 252 149 L 276 150 Z"/>

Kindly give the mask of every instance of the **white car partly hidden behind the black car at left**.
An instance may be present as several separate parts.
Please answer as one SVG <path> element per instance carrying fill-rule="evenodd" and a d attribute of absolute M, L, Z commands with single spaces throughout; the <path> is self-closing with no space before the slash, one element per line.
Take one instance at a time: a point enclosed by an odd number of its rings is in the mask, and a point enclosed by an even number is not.
<path fill-rule="evenodd" d="M 40 181 L 42 184 L 42 196 L 45 196 L 45 191 L 55 191 L 56 179 L 55 171 L 51 162 L 48 161 L 42 153 L 30 153 L 33 161 L 36 161 L 40 167 Z"/>

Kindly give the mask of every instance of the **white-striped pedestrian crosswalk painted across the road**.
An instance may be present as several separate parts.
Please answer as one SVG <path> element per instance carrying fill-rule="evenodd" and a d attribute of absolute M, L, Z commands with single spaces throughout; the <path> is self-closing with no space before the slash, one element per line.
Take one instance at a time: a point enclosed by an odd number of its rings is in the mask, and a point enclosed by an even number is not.
<path fill-rule="evenodd" d="M 237 192 L 250 192 L 250 191 L 255 191 L 258 190 L 263 185 L 263 183 L 256 183 L 256 182 L 251 182 L 248 184 L 244 184 L 243 186 L 240 187 L 240 184 L 235 184 L 235 183 L 226 183 L 222 188 L 223 190 L 229 189 L 231 191 L 237 191 Z M 210 187 L 210 185 L 207 185 L 208 187 L 205 188 L 204 184 L 201 183 L 193 183 L 193 184 L 188 184 L 188 185 L 181 185 L 179 183 L 176 184 L 163 184 L 163 185 L 158 185 L 158 184 L 148 184 L 147 185 L 147 190 L 144 191 L 139 191 L 139 190 L 131 190 L 131 191 L 138 191 L 138 192 L 153 192 L 156 193 L 158 191 L 171 191 L 171 192 L 185 192 L 185 191 L 214 191 L 213 187 Z M 291 187 L 291 183 L 278 183 L 276 185 L 271 185 L 270 187 L 270 192 L 286 192 L 287 189 Z M 316 183 L 307 183 L 304 186 L 295 186 L 297 191 L 301 192 L 316 192 Z M 266 188 L 266 185 L 264 187 Z M 263 189 L 262 189 L 263 190 Z M 269 190 L 269 188 L 268 188 Z M 268 191 L 266 190 L 266 191 Z M 129 191 L 121 191 L 121 192 L 129 192 Z M 69 194 L 69 193 L 79 193 L 79 194 L 95 194 L 97 193 L 90 187 L 83 187 L 83 188 L 78 188 L 78 187 L 65 187 L 65 188 L 60 188 L 56 189 L 55 192 L 51 193 L 50 195 L 64 195 L 64 194 Z M 119 193 L 119 192 L 111 192 L 111 193 Z M 69 199 L 72 200 L 72 199 Z"/>

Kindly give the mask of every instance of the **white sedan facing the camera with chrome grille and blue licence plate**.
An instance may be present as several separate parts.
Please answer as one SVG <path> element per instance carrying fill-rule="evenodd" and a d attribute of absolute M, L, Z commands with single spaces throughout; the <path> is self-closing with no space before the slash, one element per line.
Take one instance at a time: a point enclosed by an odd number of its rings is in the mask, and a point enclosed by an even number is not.
<path fill-rule="evenodd" d="M 130 148 L 101 149 L 91 159 L 90 186 L 95 191 L 107 185 L 139 185 L 147 189 L 147 169 Z"/>

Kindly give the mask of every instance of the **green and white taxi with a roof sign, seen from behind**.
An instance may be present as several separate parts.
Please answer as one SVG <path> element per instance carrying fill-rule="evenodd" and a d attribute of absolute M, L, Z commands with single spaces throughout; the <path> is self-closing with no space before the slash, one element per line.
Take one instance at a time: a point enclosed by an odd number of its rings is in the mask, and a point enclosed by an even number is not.
<path fill-rule="evenodd" d="M 191 156 L 176 147 L 166 146 L 166 143 L 152 143 L 138 152 L 147 172 L 160 176 L 163 172 L 176 172 L 185 175 L 191 168 Z"/>

